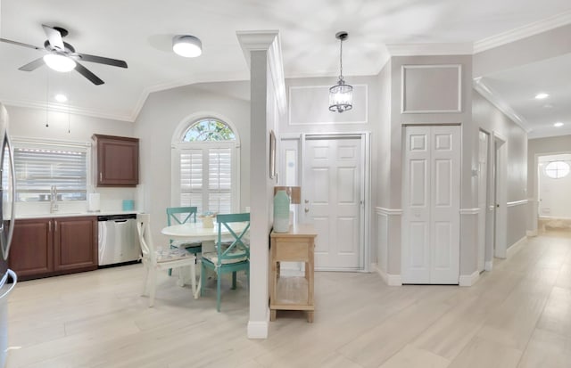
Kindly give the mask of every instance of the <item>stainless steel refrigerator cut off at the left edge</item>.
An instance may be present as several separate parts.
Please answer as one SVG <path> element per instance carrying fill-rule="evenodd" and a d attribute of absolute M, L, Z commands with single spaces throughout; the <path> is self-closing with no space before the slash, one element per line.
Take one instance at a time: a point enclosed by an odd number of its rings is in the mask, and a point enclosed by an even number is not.
<path fill-rule="evenodd" d="M 12 242 L 16 185 L 12 144 L 8 135 L 8 112 L 0 102 L 0 367 L 4 367 L 8 348 L 8 297 L 17 282 L 8 268 Z M 12 281 L 12 283 L 10 283 Z"/>

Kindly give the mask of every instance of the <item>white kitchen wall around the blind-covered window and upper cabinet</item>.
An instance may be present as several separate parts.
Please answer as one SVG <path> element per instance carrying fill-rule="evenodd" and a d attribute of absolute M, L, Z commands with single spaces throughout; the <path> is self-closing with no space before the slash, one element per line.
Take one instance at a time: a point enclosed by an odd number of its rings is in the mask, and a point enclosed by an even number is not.
<path fill-rule="evenodd" d="M 10 117 L 10 135 L 12 137 L 28 137 L 50 139 L 58 141 L 89 142 L 94 134 L 135 136 L 134 124 L 126 121 L 93 118 L 64 112 L 49 111 L 47 114 L 48 127 L 46 127 L 46 110 L 19 106 L 6 106 Z M 91 185 L 95 182 L 92 180 Z M 122 200 L 136 200 L 135 188 L 95 188 L 101 193 L 102 210 L 120 210 Z M 70 203 L 75 210 L 87 210 L 87 203 Z M 60 206 L 61 210 L 65 204 Z M 75 206 L 79 206 L 77 209 Z M 21 209 L 16 206 L 16 214 Z M 46 213 L 49 207 L 46 206 Z"/>

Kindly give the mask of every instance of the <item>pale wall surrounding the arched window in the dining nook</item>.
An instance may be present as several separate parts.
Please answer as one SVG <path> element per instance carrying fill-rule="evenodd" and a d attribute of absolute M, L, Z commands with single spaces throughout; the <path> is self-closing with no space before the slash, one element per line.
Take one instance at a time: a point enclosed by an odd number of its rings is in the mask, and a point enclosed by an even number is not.
<path fill-rule="evenodd" d="M 150 94 L 139 113 L 135 134 L 140 139 L 140 177 L 145 212 L 151 214 L 155 242 L 167 241 L 161 228 L 171 203 L 171 143 L 179 125 L 214 116 L 236 128 L 240 137 L 240 208 L 250 202 L 250 89 L 247 82 L 205 83 Z"/>

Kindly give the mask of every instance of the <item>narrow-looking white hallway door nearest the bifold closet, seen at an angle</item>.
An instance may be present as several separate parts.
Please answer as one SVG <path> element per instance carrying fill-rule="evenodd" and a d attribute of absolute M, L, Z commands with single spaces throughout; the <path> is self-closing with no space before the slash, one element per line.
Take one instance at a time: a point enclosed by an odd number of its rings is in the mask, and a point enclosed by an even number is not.
<path fill-rule="evenodd" d="M 478 271 L 485 267 L 485 225 L 488 211 L 488 143 L 489 135 L 480 131 L 478 137 Z"/>

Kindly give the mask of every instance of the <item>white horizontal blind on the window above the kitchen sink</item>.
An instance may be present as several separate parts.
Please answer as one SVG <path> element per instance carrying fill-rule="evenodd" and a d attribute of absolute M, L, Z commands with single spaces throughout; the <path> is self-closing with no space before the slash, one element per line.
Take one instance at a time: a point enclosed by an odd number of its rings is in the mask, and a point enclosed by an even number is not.
<path fill-rule="evenodd" d="M 14 169 L 17 201 L 50 200 L 52 185 L 58 200 L 86 200 L 86 148 L 15 146 Z"/>

